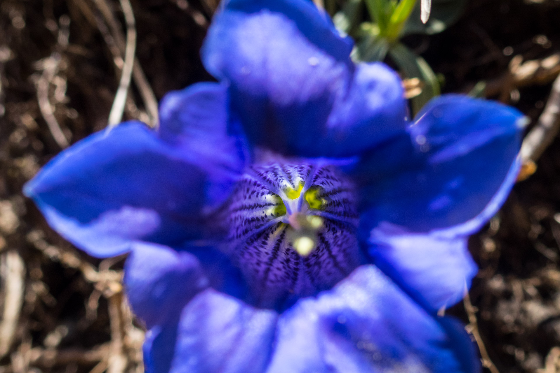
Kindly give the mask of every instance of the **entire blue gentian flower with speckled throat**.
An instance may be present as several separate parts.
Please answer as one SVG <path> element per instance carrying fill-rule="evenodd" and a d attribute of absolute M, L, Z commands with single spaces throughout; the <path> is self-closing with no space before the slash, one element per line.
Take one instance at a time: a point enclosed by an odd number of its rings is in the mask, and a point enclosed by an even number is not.
<path fill-rule="evenodd" d="M 522 115 L 450 95 L 407 118 L 402 82 L 354 65 L 305 0 L 230 0 L 219 82 L 78 142 L 25 187 L 125 288 L 149 372 L 476 372 L 437 310 L 477 268 L 466 240 L 519 171 Z"/>

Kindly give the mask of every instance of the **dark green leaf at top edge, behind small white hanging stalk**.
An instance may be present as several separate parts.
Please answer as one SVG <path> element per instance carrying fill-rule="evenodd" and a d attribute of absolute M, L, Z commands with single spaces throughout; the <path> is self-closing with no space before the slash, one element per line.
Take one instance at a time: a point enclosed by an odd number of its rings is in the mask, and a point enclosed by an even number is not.
<path fill-rule="evenodd" d="M 418 2 L 405 23 L 402 35 L 432 35 L 444 31 L 459 19 L 465 6 L 466 0 L 432 0 L 430 19 L 424 25 L 420 20 L 420 2 Z"/>

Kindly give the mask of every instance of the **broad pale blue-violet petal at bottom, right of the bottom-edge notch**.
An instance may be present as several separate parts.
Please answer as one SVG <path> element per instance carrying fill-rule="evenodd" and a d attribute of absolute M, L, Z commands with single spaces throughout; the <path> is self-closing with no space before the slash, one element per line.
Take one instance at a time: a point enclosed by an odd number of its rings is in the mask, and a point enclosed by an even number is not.
<path fill-rule="evenodd" d="M 478 372 L 464 330 L 433 318 L 372 265 L 278 321 L 268 373 Z"/>

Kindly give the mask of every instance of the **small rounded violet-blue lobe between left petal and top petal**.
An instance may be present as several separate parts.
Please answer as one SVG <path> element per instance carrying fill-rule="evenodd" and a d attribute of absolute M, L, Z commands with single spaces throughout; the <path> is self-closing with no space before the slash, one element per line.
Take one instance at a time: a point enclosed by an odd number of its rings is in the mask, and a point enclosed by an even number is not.
<path fill-rule="evenodd" d="M 221 176 L 207 185 L 208 200 L 215 205 L 227 198 L 231 180 L 249 159 L 240 125 L 228 113 L 227 88 L 226 84 L 196 83 L 167 93 L 160 105 L 161 138 L 180 149 L 189 162 Z"/>

